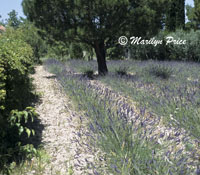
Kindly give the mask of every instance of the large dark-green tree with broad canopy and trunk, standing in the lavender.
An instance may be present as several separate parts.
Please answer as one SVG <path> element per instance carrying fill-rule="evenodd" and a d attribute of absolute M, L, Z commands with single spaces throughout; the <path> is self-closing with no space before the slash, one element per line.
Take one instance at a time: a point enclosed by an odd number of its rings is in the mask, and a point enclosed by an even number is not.
<path fill-rule="evenodd" d="M 99 74 L 106 50 L 121 35 L 150 36 L 161 28 L 165 0 L 23 0 L 24 14 L 46 35 L 93 47 Z M 162 7 L 162 8 L 160 8 Z"/>

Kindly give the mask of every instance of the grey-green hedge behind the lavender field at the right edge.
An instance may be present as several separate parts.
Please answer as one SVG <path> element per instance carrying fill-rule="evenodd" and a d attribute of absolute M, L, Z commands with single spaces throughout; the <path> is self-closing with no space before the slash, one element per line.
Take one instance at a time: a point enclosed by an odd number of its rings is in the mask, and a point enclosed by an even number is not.
<path fill-rule="evenodd" d="M 186 40 L 185 45 L 168 44 L 166 37 L 172 36 L 174 39 Z M 200 61 L 200 31 L 177 30 L 172 33 L 160 32 L 155 36 L 156 40 L 162 40 L 162 44 L 153 45 L 131 45 L 131 55 L 138 60 L 179 60 L 179 61 Z"/>

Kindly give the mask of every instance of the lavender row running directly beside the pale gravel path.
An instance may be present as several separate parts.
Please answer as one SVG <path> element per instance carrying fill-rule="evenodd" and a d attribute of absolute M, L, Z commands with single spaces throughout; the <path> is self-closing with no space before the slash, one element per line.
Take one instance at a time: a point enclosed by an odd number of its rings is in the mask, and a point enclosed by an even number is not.
<path fill-rule="evenodd" d="M 189 150 L 193 154 L 181 146 L 173 149 L 174 143 L 181 145 L 190 139 L 188 136 L 179 137 L 183 135 L 181 128 L 170 133 L 166 131 L 171 128 L 161 125 L 163 130 L 157 130 L 160 118 L 148 113 L 145 107 L 139 110 L 131 107 L 120 94 L 99 84 L 91 84 L 81 75 L 67 71 L 59 62 L 49 62 L 48 67 L 57 74 L 66 92 L 71 93 L 77 107 L 86 111 L 89 145 L 98 146 L 106 153 L 107 171 L 114 174 L 198 173 L 195 149 Z M 166 141 L 169 141 L 170 149 L 164 149 L 159 143 Z M 96 166 L 93 168 L 94 173 L 100 173 Z"/>

